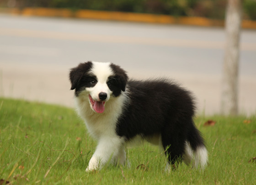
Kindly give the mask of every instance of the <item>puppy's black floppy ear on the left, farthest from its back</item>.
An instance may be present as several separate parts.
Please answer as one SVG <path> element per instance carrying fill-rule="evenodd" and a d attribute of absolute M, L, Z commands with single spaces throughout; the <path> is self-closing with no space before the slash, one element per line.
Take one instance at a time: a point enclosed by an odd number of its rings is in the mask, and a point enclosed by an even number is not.
<path fill-rule="evenodd" d="M 70 69 L 69 80 L 71 82 L 71 90 L 74 90 L 82 79 L 83 75 L 92 67 L 92 62 L 80 63 L 77 67 Z"/>

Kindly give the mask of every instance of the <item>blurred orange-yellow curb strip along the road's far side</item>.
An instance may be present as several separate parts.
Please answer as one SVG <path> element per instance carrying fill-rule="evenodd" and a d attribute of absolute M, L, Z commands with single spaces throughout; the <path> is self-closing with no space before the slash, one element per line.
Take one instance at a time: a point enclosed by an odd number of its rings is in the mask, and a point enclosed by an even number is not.
<path fill-rule="evenodd" d="M 224 26 L 224 21 L 222 20 L 208 19 L 205 17 L 174 17 L 167 15 L 129 13 L 118 11 L 72 11 L 64 8 L 0 8 L 0 13 L 22 16 L 74 17 L 81 19 L 180 24 L 190 26 Z M 243 20 L 242 27 L 245 29 L 256 29 L 256 21 Z"/>

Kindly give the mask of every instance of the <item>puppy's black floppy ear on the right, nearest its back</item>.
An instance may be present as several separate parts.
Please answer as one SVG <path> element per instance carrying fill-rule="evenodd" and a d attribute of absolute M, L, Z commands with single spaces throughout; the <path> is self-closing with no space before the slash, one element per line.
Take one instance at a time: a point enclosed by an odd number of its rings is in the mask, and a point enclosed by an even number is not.
<path fill-rule="evenodd" d="M 118 79 L 121 90 L 125 91 L 125 87 L 128 81 L 128 75 L 126 74 L 126 71 L 120 68 L 120 66 L 115 65 L 111 63 L 110 67 L 112 68 L 113 72 L 115 73 L 116 78 Z"/>

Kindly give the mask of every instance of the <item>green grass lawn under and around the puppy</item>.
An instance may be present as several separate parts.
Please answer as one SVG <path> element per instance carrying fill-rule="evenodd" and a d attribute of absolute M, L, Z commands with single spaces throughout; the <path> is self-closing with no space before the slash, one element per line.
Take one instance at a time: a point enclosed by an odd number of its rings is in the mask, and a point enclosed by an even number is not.
<path fill-rule="evenodd" d="M 216 124 L 203 126 L 208 119 Z M 167 173 L 158 147 L 144 144 L 128 148 L 130 168 L 86 173 L 96 143 L 74 110 L 0 98 L 0 179 L 13 185 L 255 184 L 256 161 L 248 161 L 256 157 L 256 117 L 199 116 L 195 122 L 209 152 L 203 172 L 182 164 Z"/>

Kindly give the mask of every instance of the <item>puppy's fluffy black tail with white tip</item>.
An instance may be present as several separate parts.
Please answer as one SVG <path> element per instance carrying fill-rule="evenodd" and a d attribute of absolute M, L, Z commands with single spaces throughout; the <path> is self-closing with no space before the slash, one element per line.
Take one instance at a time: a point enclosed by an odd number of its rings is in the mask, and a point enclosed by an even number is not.
<path fill-rule="evenodd" d="M 195 168 L 204 169 L 208 162 L 208 152 L 204 145 L 203 137 L 196 127 L 190 130 L 185 144 L 183 161 L 186 164 L 192 163 Z"/>

